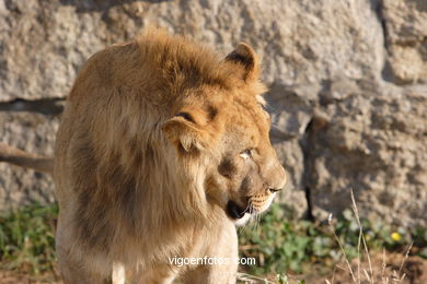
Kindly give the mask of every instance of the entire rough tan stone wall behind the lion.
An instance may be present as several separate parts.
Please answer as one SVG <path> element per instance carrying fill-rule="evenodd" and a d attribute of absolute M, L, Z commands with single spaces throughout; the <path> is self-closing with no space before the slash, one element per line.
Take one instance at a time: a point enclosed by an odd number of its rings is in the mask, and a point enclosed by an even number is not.
<path fill-rule="evenodd" d="M 147 25 L 263 58 L 281 202 L 427 225 L 426 0 L 0 0 L 0 140 L 51 154 L 64 99 L 95 51 Z M 51 201 L 51 178 L 0 165 L 0 210 Z"/>

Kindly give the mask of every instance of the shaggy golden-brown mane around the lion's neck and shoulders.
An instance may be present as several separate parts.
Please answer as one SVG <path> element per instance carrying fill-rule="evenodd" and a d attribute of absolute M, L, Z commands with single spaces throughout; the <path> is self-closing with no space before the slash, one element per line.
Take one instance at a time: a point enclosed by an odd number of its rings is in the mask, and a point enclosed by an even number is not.
<path fill-rule="evenodd" d="M 204 223 L 208 162 L 193 159 L 177 166 L 178 156 L 168 150 L 161 126 L 191 90 L 206 84 L 230 87 L 235 80 L 232 69 L 211 50 L 159 31 L 109 47 L 88 61 L 69 96 L 57 141 L 57 182 L 65 182 L 61 171 L 67 169 L 77 180 L 76 200 L 59 197 L 60 206 L 76 204 L 77 223 L 70 225 L 76 227 L 77 246 L 119 256 L 130 241 L 145 247 L 162 235 L 162 242 L 172 242 L 185 234 L 185 224 Z M 65 131 L 72 133 L 67 142 L 61 141 L 69 137 Z M 70 146 L 62 149 L 66 144 Z M 176 184 L 182 177 L 187 179 Z M 118 242 L 125 247 L 117 249 Z M 165 256 L 158 251 L 151 258 Z"/>

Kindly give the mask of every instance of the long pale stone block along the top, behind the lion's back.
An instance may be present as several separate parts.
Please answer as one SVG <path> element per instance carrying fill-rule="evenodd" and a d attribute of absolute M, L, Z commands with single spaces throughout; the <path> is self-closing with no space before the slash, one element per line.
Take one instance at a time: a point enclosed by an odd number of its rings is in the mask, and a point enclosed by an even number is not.
<path fill-rule="evenodd" d="M 223 54 L 246 42 L 263 56 L 269 83 L 378 73 L 383 37 L 371 4 L 323 2 L 0 0 L 0 100 L 66 96 L 89 56 L 147 25 Z"/>

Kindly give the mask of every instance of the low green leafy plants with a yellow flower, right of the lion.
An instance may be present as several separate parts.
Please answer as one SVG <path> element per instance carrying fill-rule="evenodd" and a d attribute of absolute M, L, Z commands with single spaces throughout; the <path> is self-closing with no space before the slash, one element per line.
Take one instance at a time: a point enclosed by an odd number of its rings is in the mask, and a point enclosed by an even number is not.
<path fill-rule="evenodd" d="M 325 223 L 296 220 L 289 209 L 273 204 L 258 223 L 247 225 L 240 232 L 242 257 L 252 257 L 257 265 L 246 267 L 255 275 L 303 273 L 313 264 L 332 267 L 342 258 L 342 249 L 331 227 Z M 403 250 L 411 241 L 419 245 L 419 256 L 426 257 L 427 233 L 425 229 L 411 232 L 379 222 L 359 220 L 369 249 Z M 360 226 L 351 210 L 345 210 L 334 220 L 336 237 L 346 257 L 359 256 Z"/>

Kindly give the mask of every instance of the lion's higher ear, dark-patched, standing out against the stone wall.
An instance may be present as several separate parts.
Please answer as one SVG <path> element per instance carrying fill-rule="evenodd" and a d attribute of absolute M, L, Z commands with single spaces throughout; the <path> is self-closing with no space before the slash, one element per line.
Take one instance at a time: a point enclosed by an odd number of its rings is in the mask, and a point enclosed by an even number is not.
<path fill-rule="evenodd" d="M 249 45 L 240 43 L 238 47 L 226 57 L 226 61 L 238 64 L 244 81 L 256 80 L 259 76 L 259 60 Z"/>

